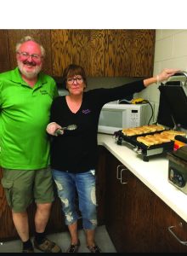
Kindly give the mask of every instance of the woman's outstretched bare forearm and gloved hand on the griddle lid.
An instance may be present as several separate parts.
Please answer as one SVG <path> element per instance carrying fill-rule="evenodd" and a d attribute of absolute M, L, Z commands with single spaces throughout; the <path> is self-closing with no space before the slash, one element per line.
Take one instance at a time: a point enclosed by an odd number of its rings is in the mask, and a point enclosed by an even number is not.
<path fill-rule="evenodd" d="M 153 77 L 153 78 L 150 78 L 150 79 L 144 79 L 144 86 L 147 87 L 150 84 L 165 81 L 168 78 L 170 78 L 171 76 L 173 76 L 174 73 L 177 73 L 178 71 L 179 71 L 179 69 L 176 69 L 176 68 L 165 68 L 156 77 Z"/>

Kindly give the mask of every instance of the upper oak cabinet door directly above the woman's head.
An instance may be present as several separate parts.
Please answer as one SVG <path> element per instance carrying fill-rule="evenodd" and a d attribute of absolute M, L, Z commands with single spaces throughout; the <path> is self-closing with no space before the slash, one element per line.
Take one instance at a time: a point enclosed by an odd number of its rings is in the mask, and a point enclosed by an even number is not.
<path fill-rule="evenodd" d="M 88 76 L 105 76 L 105 30 L 52 30 L 51 40 L 54 75 L 76 63 Z"/>

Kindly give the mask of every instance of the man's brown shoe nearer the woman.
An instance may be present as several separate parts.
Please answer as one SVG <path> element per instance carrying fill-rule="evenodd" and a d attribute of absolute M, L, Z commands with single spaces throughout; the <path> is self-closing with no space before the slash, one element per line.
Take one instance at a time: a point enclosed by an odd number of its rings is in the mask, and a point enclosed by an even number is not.
<path fill-rule="evenodd" d="M 44 252 L 44 253 L 61 253 L 61 248 L 54 243 L 54 241 L 48 240 L 48 238 L 45 238 L 44 241 L 41 244 L 37 244 L 37 241 L 34 240 L 34 246 Z"/>

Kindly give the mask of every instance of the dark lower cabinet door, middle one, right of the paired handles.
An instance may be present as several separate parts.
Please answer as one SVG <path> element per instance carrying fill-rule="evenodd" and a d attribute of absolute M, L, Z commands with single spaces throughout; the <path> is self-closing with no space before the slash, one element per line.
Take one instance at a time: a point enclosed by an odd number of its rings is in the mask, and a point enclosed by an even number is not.
<path fill-rule="evenodd" d="M 125 183 L 124 183 L 125 182 Z M 122 252 L 152 251 L 153 194 L 127 169 L 122 172 Z"/>

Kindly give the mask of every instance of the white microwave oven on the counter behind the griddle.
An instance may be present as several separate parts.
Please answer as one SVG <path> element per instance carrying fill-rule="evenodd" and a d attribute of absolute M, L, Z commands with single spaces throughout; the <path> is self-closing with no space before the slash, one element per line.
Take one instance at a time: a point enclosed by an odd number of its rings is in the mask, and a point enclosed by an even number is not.
<path fill-rule="evenodd" d="M 148 103 L 107 103 L 100 112 L 98 131 L 113 134 L 124 128 L 148 125 L 153 114 L 153 107 L 151 108 L 151 106 Z"/>

